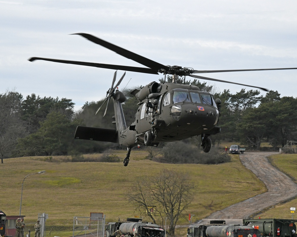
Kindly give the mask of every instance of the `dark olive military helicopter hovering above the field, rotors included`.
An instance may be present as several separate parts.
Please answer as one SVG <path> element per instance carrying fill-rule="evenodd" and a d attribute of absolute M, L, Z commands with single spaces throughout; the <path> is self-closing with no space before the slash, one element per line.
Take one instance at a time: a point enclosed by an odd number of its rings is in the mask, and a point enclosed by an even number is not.
<path fill-rule="evenodd" d="M 122 71 L 133 71 L 140 73 L 172 75 L 172 82 L 158 83 L 153 81 L 142 89 L 135 89 L 131 92 L 138 100 L 138 110 L 135 114 L 135 121 L 127 126 L 122 109 L 122 103 L 125 102 L 125 95 L 117 88 L 124 75 L 116 81 L 116 72 L 110 89 L 107 91 L 106 99 L 99 107 L 98 111 L 110 98 L 113 98 L 113 107 L 115 115 L 112 117 L 116 124 L 116 129 L 95 128 L 78 126 L 75 131 L 75 139 L 86 139 L 94 141 L 115 142 L 127 146 L 127 155 L 124 159 L 124 166 L 129 163 L 131 149 L 139 144 L 146 146 L 157 146 L 159 142 L 180 141 L 189 137 L 201 135 L 201 146 L 204 152 L 211 149 L 210 136 L 221 131 L 218 126 L 220 116 L 221 100 L 214 99 L 208 92 L 200 91 L 197 86 L 177 84 L 178 76 L 191 76 L 197 79 L 219 81 L 232 83 L 247 87 L 255 87 L 236 82 L 222 81 L 214 78 L 193 75 L 195 73 L 214 73 L 214 72 L 235 72 L 235 71 L 263 71 L 263 70 L 284 70 L 297 68 L 266 68 L 266 69 L 241 69 L 241 70 L 211 70 L 198 71 L 193 68 L 182 68 L 181 66 L 169 66 L 157 63 L 146 57 L 140 56 L 129 50 L 111 44 L 86 33 L 76 33 L 89 41 L 110 49 L 119 55 L 138 62 L 146 68 L 131 67 L 123 65 L 89 63 L 70 60 L 59 60 L 51 58 L 32 57 L 29 61 L 45 60 L 57 63 L 67 63 L 76 65 L 85 65 L 98 68 L 108 68 Z M 255 87 L 264 91 L 268 89 Z M 104 116 L 106 114 L 107 106 Z"/>

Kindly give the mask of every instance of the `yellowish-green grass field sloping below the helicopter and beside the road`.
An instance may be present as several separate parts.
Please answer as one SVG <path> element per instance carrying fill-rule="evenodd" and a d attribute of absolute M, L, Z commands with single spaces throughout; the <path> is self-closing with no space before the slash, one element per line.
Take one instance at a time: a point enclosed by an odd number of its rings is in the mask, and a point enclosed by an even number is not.
<path fill-rule="evenodd" d="M 114 154 L 124 157 L 125 153 L 126 151 L 117 151 Z M 69 225 L 72 228 L 73 217 L 88 217 L 90 212 L 103 212 L 106 222 L 117 221 L 119 217 L 126 219 L 140 216 L 135 206 L 127 201 L 126 193 L 137 178 L 143 175 L 154 176 L 164 168 L 187 172 L 196 185 L 193 201 L 187 208 L 185 218 L 180 219 L 178 225 L 189 225 L 189 213 L 195 215 L 192 219 L 195 223 L 212 212 L 266 191 L 265 185 L 241 164 L 239 155 L 232 155 L 231 162 L 219 165 L 159 164 L 143 159 L 146 155 L 146 152 L 134 151 L 127 167 L 122 162 L 49 162 L 65 159 L 54 156 L 4 159 L 4 163 L 0 164 L 0 209 L 7 215 L 18 215 L 24 177 L 41 170 L 46 172 L 25 179 L 21 210 L 28 224 L 35 223 L 38 213 L 48 214 L 47 227 Z M 288 156 L 291 155 L 275 157 L 272 161 L 280 169 L 288 170 L 288 166 L 293 166 L 294 158 L 297 158 Z M 293 168 L 290 172 L 297 179 L 297 172 Z M 296 200 L 292 200 L 292 203 L 273 208 L 286 210 L 280 212 L 278 216 L 281 217 L 278 218 L 292 217 L 290 207 L 295 206 L 294 201 L 296 203 Z M 285 206 L 282 207 L 283 205 Z M 284 215 L 286 212 L 288 216 Z M 261 214 L 261 218 L 272 218 L 274 215 L 276 213 L 269 209 Z M 149 221 L 145 216 L 143 219 Z M 69 235 L 54 230 L 51 235 L 72 236 L 72 232 Z"/>

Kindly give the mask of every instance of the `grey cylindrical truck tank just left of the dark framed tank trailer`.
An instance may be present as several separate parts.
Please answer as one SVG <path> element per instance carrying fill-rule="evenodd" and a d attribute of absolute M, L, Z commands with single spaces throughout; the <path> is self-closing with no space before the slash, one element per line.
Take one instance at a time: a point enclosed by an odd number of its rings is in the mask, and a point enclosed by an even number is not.
<path fill-rule="evenodd" d="M 260 237 L 259 230 L 241 225 L 212 225 L 206 228 L 208 237 Z"/>

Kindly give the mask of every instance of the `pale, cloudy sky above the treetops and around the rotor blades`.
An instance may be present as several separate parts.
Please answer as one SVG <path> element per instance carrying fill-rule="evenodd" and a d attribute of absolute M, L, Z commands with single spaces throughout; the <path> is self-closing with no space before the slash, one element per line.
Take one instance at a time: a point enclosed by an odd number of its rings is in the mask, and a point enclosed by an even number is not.
<path fill-rule="evenodd" d="M 24 98 L 34 93 L 72 99 L 79 110 L 87 101 L 105 98 L 115 72 L 29 62 L 31 57 L 144 67 L 73 33 L 89 33 L 158 63 L 195 70 L 295 68 L 296 9 L 296 0 L 0 0 L 0 94 L 15 90 Z M 118 79 L 123 73 L 118 71 Z M 198 75 L 297 97 L 297 70 Z M 119 89 L 163 77 L 127 71 Z M 232 94 L 255 89 L 206 82 Z"/>

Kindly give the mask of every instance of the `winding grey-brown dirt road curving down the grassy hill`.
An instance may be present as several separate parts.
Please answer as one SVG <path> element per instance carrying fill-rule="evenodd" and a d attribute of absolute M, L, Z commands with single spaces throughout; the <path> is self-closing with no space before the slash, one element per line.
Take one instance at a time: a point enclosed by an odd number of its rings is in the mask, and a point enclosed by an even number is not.
<path fill-rule="evenodd" d="M 250 152 L 239 156 L 242 164 L 263 181 L 268 192 L 214 212 L 207 219 L 245 219 L 269 206 L 296 197 L 297 184 L 268 162 L 267 156 L 273 154 L 277 153 Z"/>

